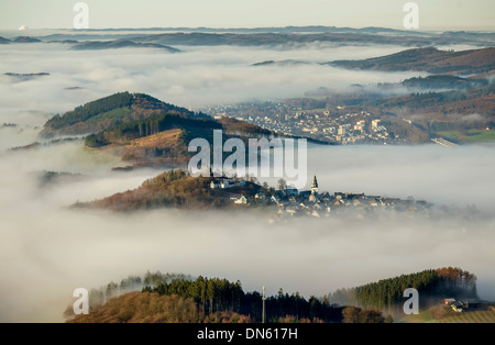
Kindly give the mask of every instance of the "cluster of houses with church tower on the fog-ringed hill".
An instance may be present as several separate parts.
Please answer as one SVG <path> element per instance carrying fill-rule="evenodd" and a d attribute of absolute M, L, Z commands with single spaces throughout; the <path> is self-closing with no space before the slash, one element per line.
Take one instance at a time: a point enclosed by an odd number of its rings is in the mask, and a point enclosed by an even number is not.
<path fill-rule="evenodd" d="M 254 192 L 243 193 L 242 188 L 248 183 L 254 186 Z M 416 201 L 409 197 L 406 200 L 387 198 L 382 196 L 366 196 L 364 193 L 319 192 L 318 180 L 315 176 L 310 190 L 299 191 L 294 187 L 286 186 L 277 191 L 263 188 L 244 179 L 212 178 L 211 189 L 221 189 L 229 193 L 230 199 L 235 204 L 272 204 L 277 207 L 278 219 L 309 215 L 315 218 L 329 216 L 331 213 L 339 213 L 345 210 L 353 212 L 367 212 L 377 209 L 417 212 L 430 207 L 426 201 Z M 232 190 L 232 192 L 229 192 Z M 235 193 L 233 190 L 237 190 Z M 250 189 L 253 191 L 253 188 Z"/>

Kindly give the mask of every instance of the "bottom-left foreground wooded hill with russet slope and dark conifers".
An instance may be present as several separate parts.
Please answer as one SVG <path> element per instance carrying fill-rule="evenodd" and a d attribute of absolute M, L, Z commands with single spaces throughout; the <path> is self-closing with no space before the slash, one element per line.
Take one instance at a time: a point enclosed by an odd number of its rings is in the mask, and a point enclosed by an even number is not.
<path fill-rule="evenodd" d="M 89 301 L 90 313 L 70 322 L 261 322 L 263 310 L 262 294 L 244 292 L 239 280 L 150 271 L 92 289 Z M 267 322 L 342 322 L 342 309 L 327 297 L 306 300 L 283 289 L 265 300 Z M 72 305 L 65 315 L 74 316 Z"/>

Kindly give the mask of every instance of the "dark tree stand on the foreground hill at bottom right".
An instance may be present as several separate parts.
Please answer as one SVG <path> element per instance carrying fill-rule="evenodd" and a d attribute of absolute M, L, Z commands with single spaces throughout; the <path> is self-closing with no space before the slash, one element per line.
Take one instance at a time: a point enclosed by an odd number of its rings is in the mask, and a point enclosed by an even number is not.
<path fill-rule="evenodd" d="M 406 289 L 418 290 L 420 302 L 443 298 L 476 298 L 476 277 L 458 267 L 427 269 L 420 272 L 383 279 L 351 289 L 339 289 L 330 300 L 339 304 L 364 308 L 393 308 L 405 301 Z"/>

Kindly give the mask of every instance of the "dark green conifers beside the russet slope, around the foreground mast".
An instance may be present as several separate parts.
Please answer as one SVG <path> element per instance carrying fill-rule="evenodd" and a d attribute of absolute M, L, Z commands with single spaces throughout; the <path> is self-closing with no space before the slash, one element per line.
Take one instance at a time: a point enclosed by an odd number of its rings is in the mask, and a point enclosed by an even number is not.
<path fill-rule="evenodd" d="M 193 299 L 206 315 L 230 311 L 255 322 L 262 321 L 262 294 L 257 291 L 244 292 L 240 281 L 204 277 L 196 280 L 175 279 L 154 288 L 145 287 L 142 292 Z M 266 299 L 265 315 L 267 322 L 341 322 L 342 308 L 331 305 L 327 298 L 310 297 L 306 300 L 298 292 L 289 296 L 280 289 L 277 296 Z"/>

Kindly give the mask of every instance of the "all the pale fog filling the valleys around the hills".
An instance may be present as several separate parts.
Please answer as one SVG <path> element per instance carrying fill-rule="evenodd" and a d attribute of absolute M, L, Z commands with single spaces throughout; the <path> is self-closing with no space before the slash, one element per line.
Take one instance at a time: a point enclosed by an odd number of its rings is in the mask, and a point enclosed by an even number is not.
<path fill-rule="evenodd" d="M 308 185 L 320 191 L 414 197 L 437 216 L 270 222 L 245 214 L 155 210 L 132 214 L 68 207 L 134 189 L 158 169 L 112 171 L 119 159 L 82 140 L 16 149 L 56 113 L 119 91 L 180 107 L 299 97 L 324 87 L 398 82 L 421 74 L 344 70 L 318 64 L 253 67 L 265 60 L 356 59 L 404 47 L 310 44 L 277 47 L 179 46 L 183 53 L 125 48 L 75 52 L 53 43 L 0 47 L 0 321 L 63 321 L 74 289 L 98 288 L 146 270 L 241 280 L 304 297 L 427 268 L 475 274 L 495 299 L 494 145 L 318 146 L 308 149 Z M 19 80 L 6 73 L 47 73 Z M 400 92 L 395 90 L 394 92 Z M 69 172 L 43 183 L 43 171 Z M 267 179 L 276 186 L 276 178 Z"/>

